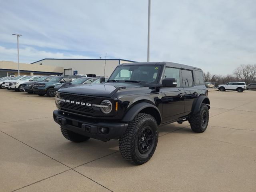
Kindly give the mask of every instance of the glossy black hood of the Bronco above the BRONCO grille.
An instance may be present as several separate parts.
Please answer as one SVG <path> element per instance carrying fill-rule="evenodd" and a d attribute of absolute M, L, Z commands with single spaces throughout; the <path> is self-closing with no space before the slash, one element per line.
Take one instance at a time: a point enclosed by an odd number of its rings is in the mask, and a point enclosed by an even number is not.
<path fill-rule="evenodd" d="M 100 97 L 112 97 L 113 94 L 120 90 L 126 88 L 136 88 L 144 87 L 143 85 L 136 83 L 104 83 L 104 84 L 78 84 L 70 85 L 68 87 L 60 88 L 59 92 L 72 93 L 72 94 L 81 94 L 81 95 L 91 95 L 91 96 L 100 96 Z"/>

